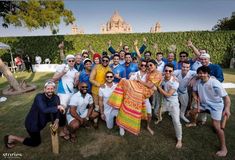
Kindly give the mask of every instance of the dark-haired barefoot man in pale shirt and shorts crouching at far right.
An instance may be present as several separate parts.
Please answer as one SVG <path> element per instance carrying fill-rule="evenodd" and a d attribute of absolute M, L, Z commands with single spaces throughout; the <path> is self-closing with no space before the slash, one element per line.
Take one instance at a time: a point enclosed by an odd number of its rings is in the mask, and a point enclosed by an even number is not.
<path fill-rule="evenodd" d="M 220 141 L 220 150 L 216 153 L 219 157 L 225 157 L 228 153 L 225 135 L 221 126 L 223 118 L 230 116 L 230 98 L 222 87 L 222 84 L 215 78 L 210 77 L 210 68 L 201 66 L 197 69 L 199 80 L 193 87 L 193 98 L 197 102 L 193 112 L 196 115 L 193 117 L 193 122 L 187 125 L 196 126 L 196 117 L 200 112 L 209 112 L 212 118 L 212 125 L 216 130 Z"/>

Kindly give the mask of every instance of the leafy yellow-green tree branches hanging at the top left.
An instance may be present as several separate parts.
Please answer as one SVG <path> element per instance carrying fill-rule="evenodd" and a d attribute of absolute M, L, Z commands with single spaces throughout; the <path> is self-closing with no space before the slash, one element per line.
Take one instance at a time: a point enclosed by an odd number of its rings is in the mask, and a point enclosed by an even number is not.
<path fill-rule="evenodd" d="M 58 1 L 1 1 L 0 17 L 2 26 L 26 27 L 29 30 L 50 27 L 53 34 L 59 29 L 61 19 L 66 25 L 75 21 L 72 11 L 65 9 L 64 2 Z"/>

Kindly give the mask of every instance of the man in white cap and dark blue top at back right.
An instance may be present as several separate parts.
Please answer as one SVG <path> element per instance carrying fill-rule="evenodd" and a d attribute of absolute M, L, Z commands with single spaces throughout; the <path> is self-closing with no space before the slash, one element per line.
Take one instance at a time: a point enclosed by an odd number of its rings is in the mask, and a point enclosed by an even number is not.
<path fill-rule="evenodd" d="M 224 74 L 221 67 L 217 64 L 210 63 L 210 55 L 203 53 L 200 55 L 200 61 L 202 66 L 208 66 L 210 68 L 210 76 L 214 76 L 218 81 L 224 81 Z"/>

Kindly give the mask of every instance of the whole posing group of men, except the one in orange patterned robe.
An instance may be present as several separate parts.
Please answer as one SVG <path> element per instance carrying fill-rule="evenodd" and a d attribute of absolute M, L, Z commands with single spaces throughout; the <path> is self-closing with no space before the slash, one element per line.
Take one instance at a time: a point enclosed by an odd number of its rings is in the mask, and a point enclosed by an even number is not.
<path fill-rule="evenodd" d="M 196 126 L 196 121 L 190 123 L 185 116 L 188 104 L 190 104 L 191 92 L 188 90 L 191 86 L 194 108 L 196 108 L 193 109 L 194 115 L 201 112 L 210 113 L 213 127 L 220 141 L 220 150 L 216 155 L 226 156 L 228 151 L 221 121 L 225 117 L 229 118 L 231 102 L 221 85 L 224 78 L 219 65 L 212 64 L 206 50 L 198 50 L 191 41 L 188 41 L 187 45 L 192 48 L 195 58 L 189 59 L 187 52 L 180 52 L 178 63 L 174 60 L 173 53 L 163 58 L 163 53 L 157 52 L 156 59 L 151 59 L 152 53 L 144 52 L 145 41 L 140 49 L 138 49 L 137 42 L 134 45 L 135 52 L 130 53 L 127 45 L 124 45 L 120 52 L 116 52 L 110 41 L 108 50 L 112 55 L 110 57 L 106 54 L 98 56 L 100 63 L 94 63 L 89 59 L 88 52 L 75 56 L 67 55 L 66 63 L 60 65 L 51 81 L 45 84 L 44 93 L 35 97 L 25 123 L 30 137 L 7 135 L 4 137 L 6 147 L 14 147 L 17 141 L 28 146 L 39 145 L 40 131 L 50 121 L 54 122 L 55 127 L 60 127 L 59 135 L 66 140 L 70 139 L 71 142 L 76 142 L 76 131 L 81 126 L 89 127 L 92 122 L 94 127 L 98 128 L 99 116 L 106 121 L 107 128 L 113 128 L 114 117 L 120 114 L 117 108 L 111 106 L 109 99 L 112 98 L 114 91 L 119 93 L 120 90 L 116 89 L 117 84 L 122 79 L 129 80 L 133 74 L 141 70 L 141 67 L 146 67 L 148 78 L 148 70 L 151 70 L 151 66 L 154 65 L 163 75 L 162 82 L 152 87 L 154 94 L 152 100 L 150 99 L 153 113 L 158 116 L 156 123 L 162 120 L 162 112 L 168 111 L 175 128 L 176 148 L 182 147 L 180 119 L 187 123 L 187 127 Z M 136 57 L 140 65 L 133 62 L 133 57 Z M 144 69 L 143 72 L 145 72 Z M 139 73 L 136 75 L 137 81 L 141 82 Z M 55 82 L 58 82 L 57 95 L 53 94 Z M 143 99 L 143 106 L 146 107 L 145 101 L 146 98 Z M 206 121 L 206 116 L 202 121 Z M 125 128 L 122 127 L 120 126 L 120 135 L 123 136 Z M 148 130 L 153 134 L 150 128 Z"/>

